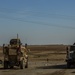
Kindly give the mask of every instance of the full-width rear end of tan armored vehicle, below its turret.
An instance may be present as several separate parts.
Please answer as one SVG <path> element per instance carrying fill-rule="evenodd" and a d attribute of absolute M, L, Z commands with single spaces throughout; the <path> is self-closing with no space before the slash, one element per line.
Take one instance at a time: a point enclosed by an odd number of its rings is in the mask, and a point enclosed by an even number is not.
<path fill-rule="evenodd" d="M 18 47 L 5 47 L 4 68 L 19 66 L 21 53 Z"/>

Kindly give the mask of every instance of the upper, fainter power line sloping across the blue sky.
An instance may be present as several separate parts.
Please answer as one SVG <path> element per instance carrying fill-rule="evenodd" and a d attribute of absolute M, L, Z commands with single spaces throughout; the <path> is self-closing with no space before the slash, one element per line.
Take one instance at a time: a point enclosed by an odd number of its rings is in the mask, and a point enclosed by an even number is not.
<path fill-rule="evenodd" d="M 69 15 L 64 15 L 64 14 L 55 14 L 55 13 L 48 13 L 48 12 L 40 12 L 40 11 L 27 11 L 25 10 L 24 13 L 19 13 L 17 11 L 20 11 L 19 9 L 10 9 L 10 8 L 0 8 L 1 11 L 0 12 L 4 12 L 5 11 L 7 13 L 14 13 L 14 14 L 21 14 L 21 15 L 28 15 L 28 12 L 29 13 L 32 13 L 31 16 L 37 16 L 37 14 L 39 14 L 37 17 L 49 17 L 49 18 L 60 18 L 60 19 L 67 19 L 67 20 L 75 20 L 75 16 L 69 16 Z M 12 11 L 15 11 L 15 12 L 12 12 Z M 26 13 L 27 12 L 27 13 Z M 30 16 L 30 15 L 29 15 Z"/>

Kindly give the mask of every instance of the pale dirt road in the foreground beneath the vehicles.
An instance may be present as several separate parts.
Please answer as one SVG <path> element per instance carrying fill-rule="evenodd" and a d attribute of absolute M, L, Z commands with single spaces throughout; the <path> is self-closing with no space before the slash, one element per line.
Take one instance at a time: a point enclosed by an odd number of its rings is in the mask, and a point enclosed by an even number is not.
<path fill-rule="evenodd" d="M 75 68 L 67 69 L 63 61 L 38 61 L 29 62 L 29 68 L 23 70 L 1 68 L 0 75 L 75 75 Z"/>

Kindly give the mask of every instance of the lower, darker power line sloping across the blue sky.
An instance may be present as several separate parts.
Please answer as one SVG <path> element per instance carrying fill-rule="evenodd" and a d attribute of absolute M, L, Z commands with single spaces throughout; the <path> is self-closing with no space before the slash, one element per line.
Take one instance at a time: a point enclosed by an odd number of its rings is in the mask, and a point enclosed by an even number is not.
<path fill-rule="evenodd" d="M 7 16 L 0 16 L 0 18 L 6 18 L 14 21 L 20 21 L 20 22 L 27 22 L 27 23 L 32 23 L 32 24 L 39 24 L 43 26 L 52 26 L 52 27 L 58 27 L 58 28 L 66 28 L 66 29 L 75 29 L 75 27 L 72 26 L 60 26 L 56 24 L 51 24 L 51 23 L 45 23 L 45 22 L 38 22 L 38 21 L 28 21 L 28 20 L 23 20 L 23 19 L 18 19 L 18 18 L 13 18 L 13 17 L 7 17 Z"/>

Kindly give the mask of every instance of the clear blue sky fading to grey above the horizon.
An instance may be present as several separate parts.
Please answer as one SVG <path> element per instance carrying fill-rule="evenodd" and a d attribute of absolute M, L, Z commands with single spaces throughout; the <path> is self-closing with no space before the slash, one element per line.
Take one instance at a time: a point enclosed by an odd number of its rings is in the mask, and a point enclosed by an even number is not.
<path fill-rule="evenodd" d="M 0 45 L 17 34 L 23 44 L 73 44 L 75 0 L 0 0 Z"/>

